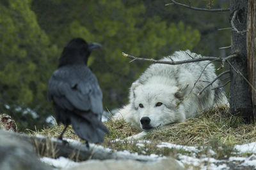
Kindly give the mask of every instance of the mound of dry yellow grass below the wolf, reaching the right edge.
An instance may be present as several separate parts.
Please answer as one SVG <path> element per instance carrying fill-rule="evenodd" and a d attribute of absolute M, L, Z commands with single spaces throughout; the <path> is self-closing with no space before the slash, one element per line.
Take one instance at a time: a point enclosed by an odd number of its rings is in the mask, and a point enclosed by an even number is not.
<path fill-rule="evenodd" d="M 211 139 L 223 144 L 242 144 L 255 141 L 255 128 L 254 124 L 244 124 L 242 118 L 230 115 L 228 108 L 220 107 L 186 122 L 152 131 L 145 139 L 191 146 L 206 145 Z"/>

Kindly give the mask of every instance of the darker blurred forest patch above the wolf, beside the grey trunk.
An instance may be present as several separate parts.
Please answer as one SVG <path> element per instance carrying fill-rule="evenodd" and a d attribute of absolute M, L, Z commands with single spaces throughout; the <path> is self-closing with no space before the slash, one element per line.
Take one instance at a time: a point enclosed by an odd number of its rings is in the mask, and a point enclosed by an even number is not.
<path fill-rule="evenodd" d="M 129 2 L 131 1 L 136 0 L 129 0 Z M 145 16 L 152 17 L 159 15 L 166 23 L 177 24 L 182 21 L 185 25 L 191 25 L 193 29 L 197 29 L 200 32 L 201 38 L 198 44 L 194 46 L 194 52 L 216 57 L 225 56 L 229 53 L 230 49 L 218 50 L 222 46 L 230 46 L 230 30 L 218 31 L 218 29 L 230 27 L 230 23 L 228 22 L 230 18 L 229 13 L 209 13 L 178 8 L 175 5 L 165 6 L 165 4 L 172 3 L 170 0 L 143 0 L 143 2 L 147 9 Z M 188 4 L 189 1 L 179 0 L 177 2 Z M 197 8 L 228 8 L 229 6 L 229 0 L 190 2 L 191 6 L 196 6 Z"/>

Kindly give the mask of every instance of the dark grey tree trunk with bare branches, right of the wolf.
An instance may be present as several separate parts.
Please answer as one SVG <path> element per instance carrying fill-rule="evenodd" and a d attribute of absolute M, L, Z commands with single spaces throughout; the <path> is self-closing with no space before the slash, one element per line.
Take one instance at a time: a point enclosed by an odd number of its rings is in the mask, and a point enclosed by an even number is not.
<path fill-rule="evenodd" d="M 247 3 L 247 0 L 230 0 L 230 20 L 236 13 L 233 23 L 238 31 L 242 31 L 231 32 L 231 53 L 237 53 L 238 57 L 230 59 L 232 64 L 230 66 L 230 112 L 251 122 L 253 120 L 252 98 L 250 86 L 246 81 L 248 80 L 246 32 L 243 32 L 246 31 Z"/>

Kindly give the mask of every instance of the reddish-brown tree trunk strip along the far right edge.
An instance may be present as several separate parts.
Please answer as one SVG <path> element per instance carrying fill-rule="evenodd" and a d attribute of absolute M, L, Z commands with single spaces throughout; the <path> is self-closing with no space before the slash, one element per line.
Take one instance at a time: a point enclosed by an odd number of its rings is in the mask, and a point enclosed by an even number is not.
<path fill-rule="evenodd" d="M 248 0 L 248 16 L 247 16 L 247 60 L 248 60 L 248 77 L 252 84 L 252 104 L 253 115 L 255 117 L 256 110 L 256 3 L 255 0 Z"/>

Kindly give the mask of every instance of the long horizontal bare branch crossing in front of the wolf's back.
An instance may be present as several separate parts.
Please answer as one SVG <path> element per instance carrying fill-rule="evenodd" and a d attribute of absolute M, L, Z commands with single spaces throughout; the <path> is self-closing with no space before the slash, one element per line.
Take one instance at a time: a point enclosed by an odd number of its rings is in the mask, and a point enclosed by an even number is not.
<path fill-rule="evenodd" d="M 185 64 L 189 62 L 199 62 L 199 61 L 204 61 L 204 60 L 211 60 L 211 61 L 220 61 L 220 62 L 225 62 L 225 60 L 231 59 L 232 57 L 236 57 L 236 54 L 229 55 L 228 57 L 200 57 L 200 58 L 194 58 L 194 59 L 188 59 L 188 60 L 180 60 L 180 61 L 164 61 L 164 60 L 154 60 L 154 59 L 145 59 L 145 58 L 139 58 L 139 57 L 134 57 L 132 55 L 129 55 L 127 53 L 122 52 L 122 55 L 125 57 L 134 60 L 140 60 L 140 61 L 147 61 L 147 62 L 153 62 L 153 63 L 158 63 L 158 64 L 170 64 L 170 65 L 177 65 L 177 64 Z"/>

